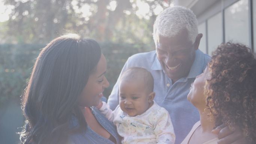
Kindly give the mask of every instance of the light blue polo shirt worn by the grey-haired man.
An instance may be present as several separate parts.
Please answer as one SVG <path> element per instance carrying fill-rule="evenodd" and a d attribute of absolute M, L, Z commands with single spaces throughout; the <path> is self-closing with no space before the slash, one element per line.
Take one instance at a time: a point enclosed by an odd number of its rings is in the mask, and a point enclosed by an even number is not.
<path fill-rule="evenodd" d="M 200 50 L 196 50 L 195 61 L 187 77 L 183 77 L 177 82 L 172 83 L 171 79 L 164 73 L 162 66 L 156 57 L 155 50 L 151 52 L 137 53 L 128 58 L 123 71 L 130 67 L 143 67 L 152 73 L 154 78 L 155 101 L 161 107 L 164 107 L 171 117 L 176 135 L 175 144 L 180 144 L 186 135 L 188 135 L 192 126 L 199 120 L 197 109 L 188 101 L 187 95 L 194 82 L 195 77 L 203 72 L 210 56 Z M 119 104 L 119 79 L 109 96 L 108 104 L 114 110 Z"/>

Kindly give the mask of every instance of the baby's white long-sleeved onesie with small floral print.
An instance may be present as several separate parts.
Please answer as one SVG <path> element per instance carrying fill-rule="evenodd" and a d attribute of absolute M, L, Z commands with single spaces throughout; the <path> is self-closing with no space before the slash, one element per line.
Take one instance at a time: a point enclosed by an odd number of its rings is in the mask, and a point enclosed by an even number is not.
<path fill-rule="evenodd" d="M 123 112 L 119 105 L 112 111 L 106 102 L 100 111 L 116 125 L 118 134 L 123 137 L 122 144 L 174 144 L 170 115 L 155 101 L 143 114 L 134 117 Z"/>

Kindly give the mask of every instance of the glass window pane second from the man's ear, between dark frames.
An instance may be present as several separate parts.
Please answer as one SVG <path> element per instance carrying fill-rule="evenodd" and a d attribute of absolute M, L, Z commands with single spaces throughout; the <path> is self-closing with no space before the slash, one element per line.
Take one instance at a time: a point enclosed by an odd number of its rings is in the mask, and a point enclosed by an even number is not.
<path fill-rule="evenodd" d="M 223 42 L 222 13 L 219 12 L 207 21 L 208 54 Z"/>

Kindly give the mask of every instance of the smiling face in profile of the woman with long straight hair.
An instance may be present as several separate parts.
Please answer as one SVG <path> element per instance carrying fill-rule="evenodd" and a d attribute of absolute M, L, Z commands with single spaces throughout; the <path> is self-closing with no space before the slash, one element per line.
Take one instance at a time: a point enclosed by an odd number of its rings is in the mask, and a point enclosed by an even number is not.
<path fill-rule="evenodd" d="M 103 96 L 102 92 L 104 91 L 104 88 L 109 86 L 109 82 L 104 75 L 106 69 L 106 58 L 101 54 L 96 71 L 89 76 L 88 82 L 79 97 L 79 106 L 91 107 L 100 104 L 101 97 Z"/>

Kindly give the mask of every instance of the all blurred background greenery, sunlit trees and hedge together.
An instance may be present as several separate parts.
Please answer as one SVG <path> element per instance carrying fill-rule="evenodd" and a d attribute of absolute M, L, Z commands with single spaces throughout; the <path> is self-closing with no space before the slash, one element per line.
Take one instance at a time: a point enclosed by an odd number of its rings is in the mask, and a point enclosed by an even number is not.
<path fill-rule="evenodd" d="M 138 14 L 141 6 L 137 0 L 3 0 L 12 9 L 10 19 L 0 22 L 0 103 L 22 95 L 35 59 L 45 46 L 36 43 L 48 43 L 65 33 L 100 42 L 108 62 L 107 97 L 127 58 L 153 50 L 154 10 L 172 2 L 140 1 L 149 8 L 145 15 Z M 116 7 L 110 9 L 111 3 Z"/>

